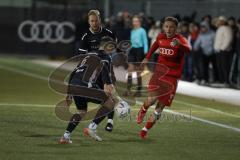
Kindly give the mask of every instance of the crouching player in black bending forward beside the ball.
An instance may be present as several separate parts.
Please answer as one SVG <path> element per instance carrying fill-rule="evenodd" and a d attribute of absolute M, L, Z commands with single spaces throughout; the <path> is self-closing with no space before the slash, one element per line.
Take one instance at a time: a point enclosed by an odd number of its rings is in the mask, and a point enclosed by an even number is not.
<path fill-rule="evenodd" d="M 112 39 L 103 37 L 100 41 L 99 50 L 82 55 L 79 65 L 70 75 L 68 94 L 73 96 L 78 112 L 70 119 L 64 135 L 59 140 L 60 144 L 72 143 L 70 134 L 86 115 L 88 102 L 101 104 L 102 107 L 90 124 L 92 126 L 85 128 L 84 133 L 97 141 L 102 141 L 96 134 L 97 125 L 113 110 L 118 101 L 113 95 L 111 57 L 104 50 Z"/>

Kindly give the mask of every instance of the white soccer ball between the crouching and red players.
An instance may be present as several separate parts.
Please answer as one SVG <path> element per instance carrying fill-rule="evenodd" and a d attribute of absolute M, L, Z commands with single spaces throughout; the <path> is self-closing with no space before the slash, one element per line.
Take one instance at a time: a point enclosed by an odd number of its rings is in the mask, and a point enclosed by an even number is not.
<path fill-rule="evenodd" d="M 121 100 L 118 102 L 118 104 L 115 107 L 116 114 L 119 118 L 124 118 L 128 114 L 130 114 L 130 106 L 127 102 Z"/>

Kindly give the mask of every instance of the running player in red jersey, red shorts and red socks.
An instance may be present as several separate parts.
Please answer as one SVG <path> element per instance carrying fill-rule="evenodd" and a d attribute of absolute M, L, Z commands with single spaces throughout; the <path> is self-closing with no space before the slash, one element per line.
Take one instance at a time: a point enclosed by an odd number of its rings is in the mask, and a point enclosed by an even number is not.
<path fill-rule="evenodd" d="M 165 106 L 170 106 L 177 89 L 178 80 L 181 77 L 184 54 L 190 52 L 190 45 L 180 34 L 177 34 L 178 20 L 174 17 L 166 17 L 163 24 L 164 33 L 160 33 L 151 46 L 142 67 L 148 63 L 151 55 L 159 49 L 158 62 L 155 71 L 148 84 L 148 97 L 138 112 L 137 123 L 140 124 L 150 106 L 156 104 L 155 111 L 147 120 L 145 127 L 139 133 L 144 139 L 147 132 L 160 118 Z"/>

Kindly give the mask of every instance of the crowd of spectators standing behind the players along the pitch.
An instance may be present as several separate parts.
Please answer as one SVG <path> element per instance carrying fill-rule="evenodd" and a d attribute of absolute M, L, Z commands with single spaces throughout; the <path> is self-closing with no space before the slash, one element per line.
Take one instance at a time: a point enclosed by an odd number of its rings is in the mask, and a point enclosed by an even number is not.
<path fill-rule="evenodd" d="M 118 40 L 129 40 L 132 17 L 129 12 L 119 12 L 104 20 Z M 148 35 L 149 46 L 162 32 L 162 19 L 138 14 Z M 211 17 L 197 20 L 196 15 L 181 17 L 178 33 L 186 37 L 192 51 L 185 56 L 182 80 L 213 87 L 240 87 L 240 19 L 235 17 Z M 164 17 L 163 17 L 164 18 Z M 156 61 L 158 54 L 152 57 Z"/>

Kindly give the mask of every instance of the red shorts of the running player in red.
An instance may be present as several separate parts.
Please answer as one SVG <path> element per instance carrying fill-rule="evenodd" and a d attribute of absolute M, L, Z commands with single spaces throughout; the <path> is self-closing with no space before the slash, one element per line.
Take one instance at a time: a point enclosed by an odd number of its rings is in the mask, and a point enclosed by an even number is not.
<path fill-rule="evenodd" d="M 171 76 L 159 76 L 154 73 L 148 84 L 148 93 L 151 97 L 157 97 L 158 101 L 171 106 L 172 100 L 176 94 L 178 79 Z"/>

